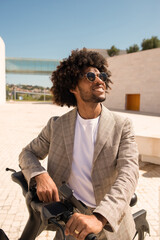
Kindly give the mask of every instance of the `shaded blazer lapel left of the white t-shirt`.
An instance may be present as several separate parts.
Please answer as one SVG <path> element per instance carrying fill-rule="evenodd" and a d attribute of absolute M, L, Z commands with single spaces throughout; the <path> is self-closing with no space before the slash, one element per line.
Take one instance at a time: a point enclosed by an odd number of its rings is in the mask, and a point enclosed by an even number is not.
<path fill-rule="evenodd" d="M 74 108 L 72 111 L 65 114 L 61 119 L 66 152 L 67 152 L 67 156 L 70 163 L 73 160 L 73 145 L 74 145 L 76 117 L 77 117 L 77 108 Z"/>

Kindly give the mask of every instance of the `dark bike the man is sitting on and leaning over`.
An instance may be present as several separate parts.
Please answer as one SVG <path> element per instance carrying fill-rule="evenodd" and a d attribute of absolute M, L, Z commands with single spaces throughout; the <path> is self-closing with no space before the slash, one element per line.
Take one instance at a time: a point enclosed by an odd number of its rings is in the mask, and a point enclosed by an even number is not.
<path fill-rule="evenodd" d="M 6 170 L 13 172 L 11 175 L 12 180 L 21 186 L 29 211 L 28 221 L 19 240 L 35 240 L 35 238 L 44 230 L 55 231 L 55 226 L 61 230 L 62 237 L 65 240 L 66 237 L 63 226 L 72 214 L 75 211 L 83 214 L 91 214 L 90 210 L 73 196 L 73 191 L 66 184 L 63 184 L 59 189 L 61 196 L 60 202 L 43 203 L 39 201 L 35 188 L 28 191 L 27 182 L 21 171 L 16 172 L 15 170 L 9 168 Z M 134 206 L 136 202 L 137 196 L 134 194 L 131 199 L 130 206 Z M 144 240 L 145 233 L 149 234 L 149 224 L 146 220 L 146 210 L 142 209 L 134 213 L 133 219 L 136 226 L 134 239 Z M 0 240 L 9 240 L 2 229 L 0 229 Z M 91 233 L 86 236 L 85 240 L 98 239 L 95 234 Z"/>

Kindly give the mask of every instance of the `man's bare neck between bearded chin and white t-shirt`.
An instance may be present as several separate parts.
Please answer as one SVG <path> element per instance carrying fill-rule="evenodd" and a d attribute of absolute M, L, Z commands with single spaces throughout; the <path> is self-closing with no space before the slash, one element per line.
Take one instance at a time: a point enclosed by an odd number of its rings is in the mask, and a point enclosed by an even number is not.
<path fill-rule="evenodd" d="M 102 106 L 100 103 L 94 105 L 84 105 L 84 106 L 77 106 L 79 115 L 84 119 L 93 119 L 97 118 L 102 111 Z"/>

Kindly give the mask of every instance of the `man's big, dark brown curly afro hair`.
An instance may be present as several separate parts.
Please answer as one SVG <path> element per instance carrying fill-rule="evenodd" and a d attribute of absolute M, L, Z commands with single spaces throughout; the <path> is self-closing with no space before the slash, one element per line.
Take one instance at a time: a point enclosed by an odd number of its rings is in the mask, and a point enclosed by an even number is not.
<path fill-rule="evenodd" d="M 108 75 L 106 88 L 110 88 L 109 83 L 112 83 L 112 81 L 109 77 L 111 73 L 107 69 L 106 59 L 98 52 L 88 51 L 86 48 L 82 50 L 76 49 L 71 52 L 68 58 L 60 62 L 60 65 L 52 73 L 51 81 L 53 86 L 51 92 L 54 103 L 60 106 L 67 105 L 68 107 L 77 105 L 76 98 L 70 92 L 70 89 L 75 89 L 78 80 L 87 67 L 95 67 L 100 72 L 106 72 Z"/>

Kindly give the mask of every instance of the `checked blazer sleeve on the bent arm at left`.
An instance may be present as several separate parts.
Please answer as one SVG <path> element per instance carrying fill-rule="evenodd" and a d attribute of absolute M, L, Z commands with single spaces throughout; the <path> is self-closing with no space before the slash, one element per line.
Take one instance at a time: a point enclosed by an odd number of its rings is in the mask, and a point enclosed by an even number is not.
<path fill-rule="evenodd" d="M 19 166 L 28 185 L 31 178 L 46 172 L 39 160 L 48 155 L 53 124 L 54 118 L 51 118 L 38 137 L 32 140 L 19 155 Z"/>

